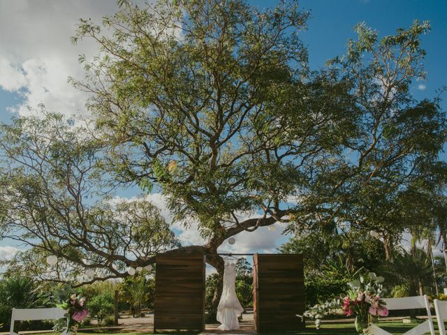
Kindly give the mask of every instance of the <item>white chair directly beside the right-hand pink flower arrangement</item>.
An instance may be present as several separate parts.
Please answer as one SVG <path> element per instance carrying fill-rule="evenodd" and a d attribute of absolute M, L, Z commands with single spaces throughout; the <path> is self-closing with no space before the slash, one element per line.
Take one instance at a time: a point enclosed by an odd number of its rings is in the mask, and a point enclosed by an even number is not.
<path fill-rule="evenodd" d="M 416 327 L 410 329 L 408 332 L 404 333 L 404 335 L 423 335 L 426 333 L 434 335 L 432 313 L 430 313 L 430 303 L 428 302 L 427 295 L 383 300 L 386 302 L 386 308 L 388 308 L 388 311 L 425 308 L 425 310 L 427 311 L 428 319 L 420 323 Z M 381 329 L 378 325 L 375 324 L 369 326 L 368 332 L 368 334 L 372 335 L 391 335 L 391 333 L 386 332 L 386 330 Z"/>

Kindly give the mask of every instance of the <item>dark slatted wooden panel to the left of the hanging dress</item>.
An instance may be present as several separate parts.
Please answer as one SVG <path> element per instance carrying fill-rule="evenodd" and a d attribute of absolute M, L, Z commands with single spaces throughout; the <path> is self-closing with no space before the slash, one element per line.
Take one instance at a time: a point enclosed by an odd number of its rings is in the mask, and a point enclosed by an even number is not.
<path fill-rule="evenodd" d="M 156 257 L 154 333 L 205 329 L 203 255 Z"/>

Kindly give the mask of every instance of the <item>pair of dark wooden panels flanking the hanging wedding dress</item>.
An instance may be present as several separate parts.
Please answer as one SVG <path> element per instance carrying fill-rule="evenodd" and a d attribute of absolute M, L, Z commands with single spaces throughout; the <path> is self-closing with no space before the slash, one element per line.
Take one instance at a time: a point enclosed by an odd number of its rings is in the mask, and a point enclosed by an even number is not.
<path fill-rule="evenodd" d="M 254 258 L 256 332 L 303 329 L 304 323 L 296 316 L 305 311 L 302 255 L 233 255 Z M 154 334 L 205 329 L 205 263 L 206 255 L 156 256 Z"/>

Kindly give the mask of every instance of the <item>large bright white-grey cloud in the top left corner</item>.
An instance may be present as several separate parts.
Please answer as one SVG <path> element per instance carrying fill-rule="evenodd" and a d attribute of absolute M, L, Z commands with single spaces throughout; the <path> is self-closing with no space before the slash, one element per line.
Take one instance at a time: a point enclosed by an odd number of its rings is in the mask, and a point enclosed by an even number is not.
<path fill-rule="evenodd" d="M 86 94 L 67 78 L 82 79 L 78 54 L 93 56 L 98 50 L 92 41 L 71 45 L 69 38 L 80 17 L 101 22 L 116 10 L 110 0 L 0 1 L 0 88 L 23 98 L 12 110 L 27 114 L 28 106 L 39 103 L 67 115 L 84 110 Z"/>

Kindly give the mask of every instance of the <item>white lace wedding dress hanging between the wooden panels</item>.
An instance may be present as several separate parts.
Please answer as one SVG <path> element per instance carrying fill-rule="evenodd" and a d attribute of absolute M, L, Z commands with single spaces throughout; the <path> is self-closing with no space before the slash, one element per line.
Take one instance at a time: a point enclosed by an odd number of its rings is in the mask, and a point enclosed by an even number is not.
<path fill-rule="evenodd" d="M 239 329 L 237 318 L 244 311 L 236 295 L 235 266 L 236 260 L 225 260 L 222 296 L 217 307 L 217 321 L 221 322 L 221 330 Z"/>

